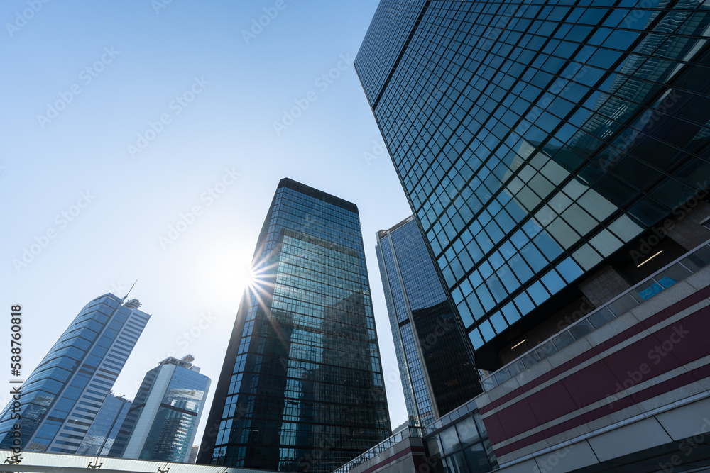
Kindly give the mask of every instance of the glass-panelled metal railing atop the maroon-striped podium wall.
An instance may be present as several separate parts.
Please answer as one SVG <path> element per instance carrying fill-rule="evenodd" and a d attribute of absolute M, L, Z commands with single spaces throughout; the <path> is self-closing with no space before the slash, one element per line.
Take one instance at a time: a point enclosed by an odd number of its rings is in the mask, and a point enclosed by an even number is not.
<path fill-rule="evenodd" d="M 493 372 L 481 380 L 484 391 L 488 391 L 512 377 L 520 374 L 537 363 L 545 360 L 555 352 L 571 345 L 588 333 L 605 325 L 631 308 L 642 304 L 651 297 L 668 289 L 673 284 L 682 281 L 691 274 L 710 265 L 710 242 L 703 243 L 694 250 L 687 252 L 674 262 L 655 272 L 645 281 L 636 284 L 627 291 L 608 301 L 603 306 L 594 309 L 586 316 L 569 325 L 561 332 L 535 346 L 528 352 L 516 358 L 508 365 Z"/>

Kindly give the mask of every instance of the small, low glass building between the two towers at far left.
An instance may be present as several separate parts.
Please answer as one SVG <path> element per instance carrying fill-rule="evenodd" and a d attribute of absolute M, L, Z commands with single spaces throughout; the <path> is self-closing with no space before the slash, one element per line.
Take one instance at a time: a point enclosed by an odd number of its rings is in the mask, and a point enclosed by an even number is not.
<path fill-rule="evenodd" d="M 130 407 L 131 401 L 109 393 L 79 445 L 77 455 L 107 457 Z"/>

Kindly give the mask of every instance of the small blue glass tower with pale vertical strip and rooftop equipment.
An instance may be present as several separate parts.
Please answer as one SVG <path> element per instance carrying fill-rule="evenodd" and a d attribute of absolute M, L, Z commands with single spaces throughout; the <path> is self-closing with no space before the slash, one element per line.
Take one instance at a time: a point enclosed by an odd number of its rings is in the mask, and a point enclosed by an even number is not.
<path fill-rule="evenodd" d="M 168 357 L 146 373 L 111 457 L 187 462 L 209 390 L 209 378 L 193 361 Z"/>

